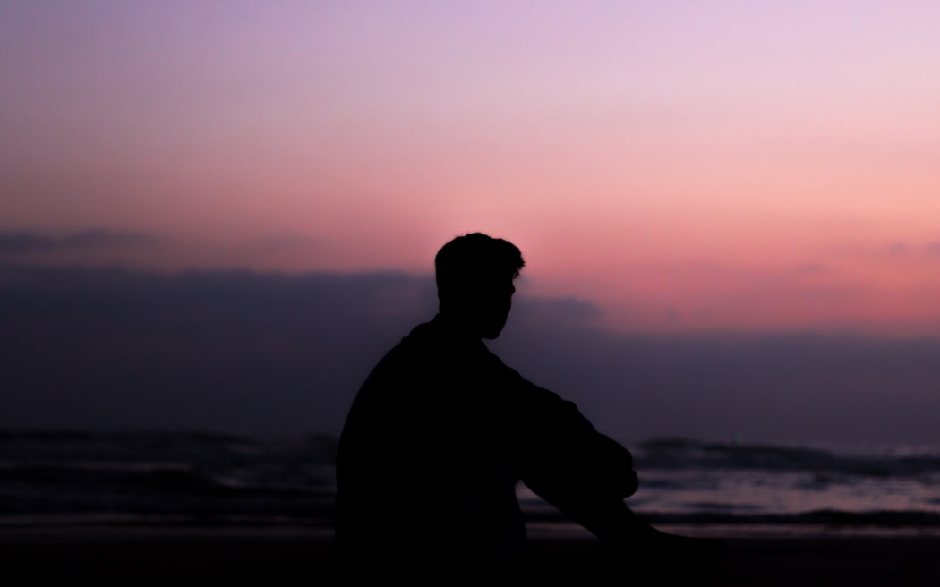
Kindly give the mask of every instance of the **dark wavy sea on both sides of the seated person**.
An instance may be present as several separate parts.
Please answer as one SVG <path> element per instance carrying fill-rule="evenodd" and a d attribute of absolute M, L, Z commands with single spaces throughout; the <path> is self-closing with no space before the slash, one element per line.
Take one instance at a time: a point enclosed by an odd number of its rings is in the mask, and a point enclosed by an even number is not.
<path fill-rule="evenodd" d="M 666 532 L 940 535 L 938 446 L 627 447 L 640 477 L 627 504 Z M 329 536 L 335 451 L 327 435 L 0 431 L 0 541 Z M 518 495 L 530 535 L 586 533 L 525 486 Z"/>

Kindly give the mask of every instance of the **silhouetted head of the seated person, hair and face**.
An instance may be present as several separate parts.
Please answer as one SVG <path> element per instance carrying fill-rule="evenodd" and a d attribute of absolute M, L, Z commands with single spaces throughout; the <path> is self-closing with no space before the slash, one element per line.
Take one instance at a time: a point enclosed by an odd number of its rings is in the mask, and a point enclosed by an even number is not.
<path fill-rule="evenodd" d="M 509 317 L 512 280 L 524 266 L 522 253 L 508 240 L 478 232 L 451 240 L 434 258 L 441 314 L 482 338 L 496 338 Z"/>

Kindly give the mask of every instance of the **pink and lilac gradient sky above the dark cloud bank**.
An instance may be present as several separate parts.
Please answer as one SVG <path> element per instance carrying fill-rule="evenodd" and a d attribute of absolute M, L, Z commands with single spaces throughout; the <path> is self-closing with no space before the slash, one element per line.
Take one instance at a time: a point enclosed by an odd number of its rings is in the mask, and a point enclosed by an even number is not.
<path fill-rule="evenodd" d="M 940 335 L 940 3 L 5 2 L 0 260 L 431 270 Z"/>

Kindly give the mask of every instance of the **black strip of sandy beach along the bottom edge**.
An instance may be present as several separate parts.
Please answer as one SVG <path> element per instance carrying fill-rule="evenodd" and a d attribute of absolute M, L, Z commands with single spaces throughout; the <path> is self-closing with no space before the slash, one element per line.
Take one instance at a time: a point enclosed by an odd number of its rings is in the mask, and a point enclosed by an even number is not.
<path fill-rule="evenodd" d="M 662 584 L 638 579 L 629 558 L 610 564 L 590 539 L 533 539 L 532 579 L 574 584 Z M 732 538 L 712 568 L 667 561 L 681 584 L 940 585 L 940 538 Z M 0 544 L 4 584 L 324 585 L 337 577 L 335 549 L 313 539 L 150 539 L 119 543 Z M 379 570 L 379 569 L 376 569 Z M 460 573 L 440 584 L 460 583 Z M 381 578 L 381 575 L 377 577 Z M 13 579 L 13 580 L 8 580 Z M 549 580 L 545 580 L 549 579 Z M 662 580 L 659 580 L 662 579 Z M 81 582 L 79 582 L 81 581 Z"/>

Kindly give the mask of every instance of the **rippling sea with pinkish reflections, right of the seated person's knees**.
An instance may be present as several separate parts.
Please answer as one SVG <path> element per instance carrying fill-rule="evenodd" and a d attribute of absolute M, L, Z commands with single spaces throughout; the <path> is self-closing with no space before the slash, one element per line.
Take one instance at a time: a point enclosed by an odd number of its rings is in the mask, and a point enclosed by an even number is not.
<path fill-rule="evenodd" d="M 938 448 L 652 440 L 632 447 L 640 488 L 627 503 L 690 534 L 940 534 Z"/>

